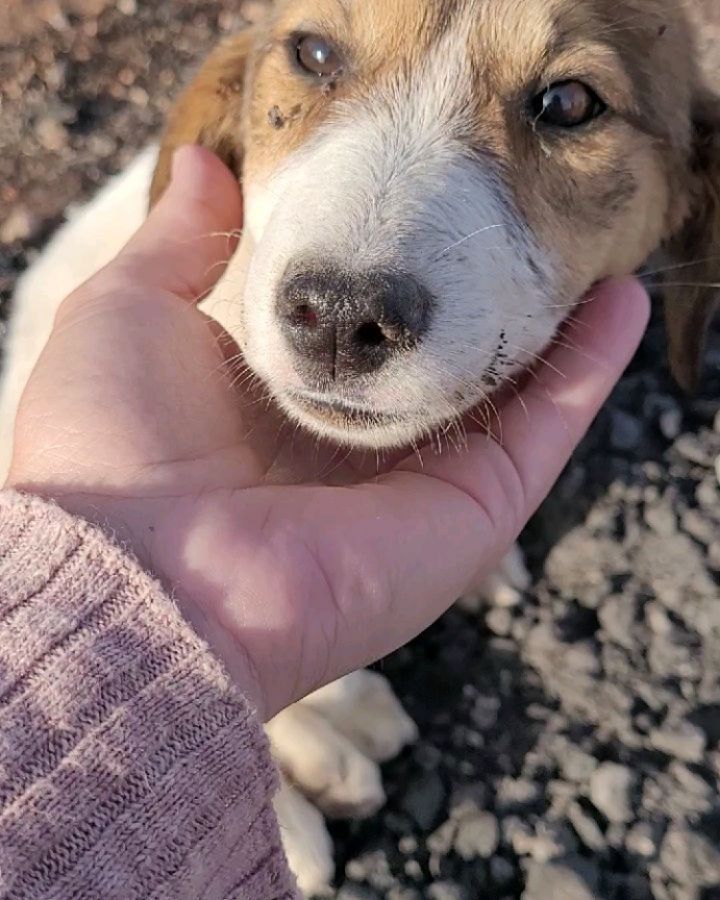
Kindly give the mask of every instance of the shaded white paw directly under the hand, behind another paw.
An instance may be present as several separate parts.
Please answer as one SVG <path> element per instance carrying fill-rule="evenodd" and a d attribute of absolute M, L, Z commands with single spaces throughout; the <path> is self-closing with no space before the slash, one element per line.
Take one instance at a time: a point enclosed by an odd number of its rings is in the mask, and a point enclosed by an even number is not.
<path fill-rule="evenodd" d="M 376 762 L 394 759 L 418 738 L 390 682 L 362 669 L 321 688 L 302 701 Z"/>

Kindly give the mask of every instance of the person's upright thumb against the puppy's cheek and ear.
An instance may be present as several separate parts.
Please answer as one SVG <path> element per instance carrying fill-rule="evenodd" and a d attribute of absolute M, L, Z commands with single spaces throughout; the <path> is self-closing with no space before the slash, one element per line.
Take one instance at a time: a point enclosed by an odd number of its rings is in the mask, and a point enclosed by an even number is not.
<path fill-rule="evenodd" d="M 133 281 L 200 300 L 222 275 L 242 228 L 233 173 L 203 147 L 178 148 L 172 180 L 116 263 Z"/>

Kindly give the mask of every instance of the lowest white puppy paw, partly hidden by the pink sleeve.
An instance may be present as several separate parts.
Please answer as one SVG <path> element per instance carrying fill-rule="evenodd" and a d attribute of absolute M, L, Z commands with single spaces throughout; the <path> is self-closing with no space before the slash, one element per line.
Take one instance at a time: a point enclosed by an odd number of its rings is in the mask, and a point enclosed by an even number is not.
<path fill-rule="evenodd" d="M 284 778 L 274 806 L 285 855 L 298 887 L 306 897 L 326 896 L 335 863 L 332 840 L 321 813 Z"/>

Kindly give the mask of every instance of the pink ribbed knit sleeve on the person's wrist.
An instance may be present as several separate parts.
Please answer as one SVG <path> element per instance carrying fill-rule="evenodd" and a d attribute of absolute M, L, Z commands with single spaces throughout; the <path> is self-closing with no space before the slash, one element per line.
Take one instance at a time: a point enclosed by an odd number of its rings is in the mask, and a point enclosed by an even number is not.
<path fill-rule="evenodd" d="M 0 896 L 298 896 L 261 724 L 99 530 L 0 492 Z"/>

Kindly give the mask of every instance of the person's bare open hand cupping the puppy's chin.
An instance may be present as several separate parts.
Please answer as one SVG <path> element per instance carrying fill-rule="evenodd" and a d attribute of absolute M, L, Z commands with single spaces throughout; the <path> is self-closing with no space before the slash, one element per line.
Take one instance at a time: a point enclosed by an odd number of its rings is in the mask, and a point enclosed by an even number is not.
<path fill-rule="evenodd" d="M 318 451 L 233 384 L 231 342 L 193 301 L 241 218 L 230 172 L 183 148 L 143 228 L 61 307 L 20 404 L 8 486 L 129 544 L 270 717 L 411 639 L 497 565 L 649 305 L 632 279 L 599 287 L 575 346 L 502 401 L 501 441 L 478 429 L 466 449 L 378 471 Z"/>

